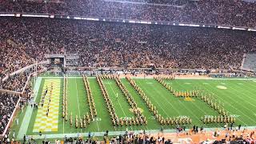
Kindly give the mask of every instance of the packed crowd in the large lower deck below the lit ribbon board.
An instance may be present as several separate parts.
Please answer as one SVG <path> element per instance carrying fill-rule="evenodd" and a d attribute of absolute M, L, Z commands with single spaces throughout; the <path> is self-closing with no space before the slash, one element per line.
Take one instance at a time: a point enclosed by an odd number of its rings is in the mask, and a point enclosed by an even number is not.
<path fill-rule="evenodd" d="M 256 51 L 256 35 L 239 30 L 46 18 L 1 18 L 0 29 L 1 42 L 25 48 L 0 54 L 6 67 L 20 62 L 2 75 L 64 52 L 80 54 L 82 66 L 230 69 Z"/>

